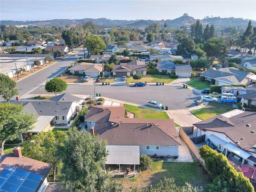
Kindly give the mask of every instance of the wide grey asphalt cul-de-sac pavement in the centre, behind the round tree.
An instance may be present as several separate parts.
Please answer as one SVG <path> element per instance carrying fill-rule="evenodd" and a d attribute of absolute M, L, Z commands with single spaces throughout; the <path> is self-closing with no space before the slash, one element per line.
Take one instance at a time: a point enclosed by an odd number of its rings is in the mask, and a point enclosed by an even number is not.
<path fill-rule="evenodd" d="M 145 87 L 133 87 L 118 83 L 113 85 L 95 85 L 95 92 L 102 97 L 145 105 L 149 100 L 156 100 L 169 109 L 183 109 L 196 105 L 200 95 L 191 89 L 173 85 L 147 85 Z M 68 85 L 65 93 L 69 94 L 93 94 L 93 85 Z M 47 94 L 43 86 L 39 86 L 30 94 Z"/>

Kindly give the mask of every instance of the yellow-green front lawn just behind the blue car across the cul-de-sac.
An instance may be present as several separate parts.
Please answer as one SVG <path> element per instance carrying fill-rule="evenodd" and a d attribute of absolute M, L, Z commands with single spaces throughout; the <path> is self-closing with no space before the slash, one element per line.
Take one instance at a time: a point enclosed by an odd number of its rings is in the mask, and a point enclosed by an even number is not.
<path fill-rule="evenodd" d="M 171 83 L 175 78 L 171 78 L 170 75 L 147 75 L 142 76 L 141 79 L 134 80 L 132 77 L 126 79 L 126 83 L 137 83 L 137 82 L 147 82 L 147 83 Z"/>

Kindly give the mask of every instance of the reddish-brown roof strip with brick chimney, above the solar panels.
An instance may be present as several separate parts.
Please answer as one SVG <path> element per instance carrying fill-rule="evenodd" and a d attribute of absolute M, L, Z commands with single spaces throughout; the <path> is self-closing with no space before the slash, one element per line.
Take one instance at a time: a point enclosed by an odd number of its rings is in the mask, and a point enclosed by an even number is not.
<path fill-rule="evenodd" d="M 51 165 L 28 157 L 17 157 L 12 153 L 0 157 L 0 165 L 11 166 L 24 171 L 43 175 L 44 178 L 51 170 Z M 1 172 L 1 169 L 0 169 Z"/>

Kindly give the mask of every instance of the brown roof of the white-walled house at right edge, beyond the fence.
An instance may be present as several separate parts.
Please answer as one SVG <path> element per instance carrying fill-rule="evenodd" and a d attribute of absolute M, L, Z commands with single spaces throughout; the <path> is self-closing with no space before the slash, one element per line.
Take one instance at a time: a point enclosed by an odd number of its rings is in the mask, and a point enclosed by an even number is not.
<path fill-rule="evenodd" d="M 193 125 L 203 131 L 224 133 L 233 142 L 239 141 L 238 147 L 256 153 L 256 133 L 253 133 L 253 130 L 256 131 L 255 112 L 245 111 L 229 118 L 218 115 Z"/>

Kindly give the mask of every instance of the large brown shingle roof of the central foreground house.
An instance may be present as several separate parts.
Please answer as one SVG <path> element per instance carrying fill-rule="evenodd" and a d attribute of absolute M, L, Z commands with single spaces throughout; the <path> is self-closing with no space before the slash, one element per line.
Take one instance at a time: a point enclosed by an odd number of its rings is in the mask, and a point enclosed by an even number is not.
<path fill-rule="evenodd" d="M 124 107 L 90 107 L 85 121 L 108 145 L 180 145 L 173 119 L 124 118 Z M 130 135 L 130 137 L 129 137 Z"/>

